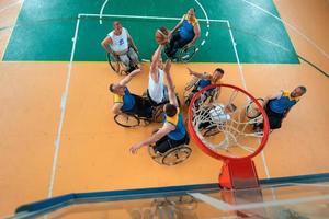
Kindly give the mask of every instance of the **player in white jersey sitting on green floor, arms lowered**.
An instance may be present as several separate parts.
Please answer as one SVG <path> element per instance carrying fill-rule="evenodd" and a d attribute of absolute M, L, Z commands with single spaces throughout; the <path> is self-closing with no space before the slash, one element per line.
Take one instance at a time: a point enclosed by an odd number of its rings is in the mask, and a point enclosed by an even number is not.
<path fill-rule="evenodd" d="M 113 22 L 113 28 L 101 44 L 107 53 L 120 58 L 126 71 L 132 71 L 138 65 L 137 47 L 128 31 L 120 22 Z"/>

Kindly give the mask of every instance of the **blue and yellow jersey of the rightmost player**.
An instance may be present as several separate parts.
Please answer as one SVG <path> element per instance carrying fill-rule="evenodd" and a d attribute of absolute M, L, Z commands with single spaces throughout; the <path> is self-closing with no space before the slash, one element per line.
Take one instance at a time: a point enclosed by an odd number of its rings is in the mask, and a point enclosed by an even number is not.
<path fill-rule="evenodd" d="M 269 106 L 274 113 L 283 114 L 298 101 L 298 97 L 291 96 L 291 92 L 283 91 L 280 99 L 274 99 L 269 102 Z"/>

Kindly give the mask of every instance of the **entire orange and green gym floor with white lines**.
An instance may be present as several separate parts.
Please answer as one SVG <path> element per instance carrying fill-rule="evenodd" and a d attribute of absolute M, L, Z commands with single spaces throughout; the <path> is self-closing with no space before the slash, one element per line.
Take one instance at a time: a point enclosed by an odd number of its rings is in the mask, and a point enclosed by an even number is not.
<path fill-rule="evenodd" d="M 124 129 L 110 111 L 107 87 L 122 77 L 110 69 L 100 42 L 112 22 L 120 20 L 149 59 L 155 30 L 173 27 L 190 7 L 202 36 L 193 60 L 172 66 L 180 96 L 186 67 L 220 67 L 225 83 L 256 97 L 305 85 L 308 92 L 254 159 L 258 174 L 329 172 L 327 0 L 2 0 L 0 216 L 67 193 L 217 182 L 222 163 L 193 142 L 189 160 L 171 168 L 154 162 L 146 148 L 131 154 L 128 148 L 159 125 Z M 143 67 L 128 85 L 136 94 L 147 88 L 149 64 Z"/>

